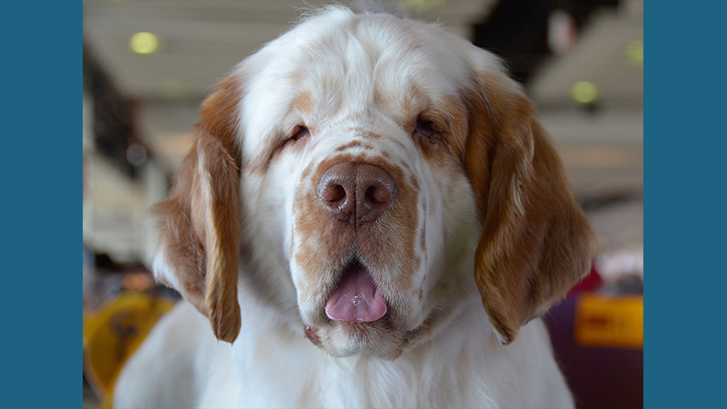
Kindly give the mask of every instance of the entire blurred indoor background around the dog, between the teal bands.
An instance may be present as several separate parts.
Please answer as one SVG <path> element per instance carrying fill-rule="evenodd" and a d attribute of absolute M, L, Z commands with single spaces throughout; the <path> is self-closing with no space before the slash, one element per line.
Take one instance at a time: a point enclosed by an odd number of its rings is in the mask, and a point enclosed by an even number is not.
<path fill-rule="evenodd" d="M 84 407 L 177 298 L 154 284 L 148 210 L 191 147 L 199 104 L 283 33 L 300 0 L 85 0 Z M 339 1 L 343 5 L 354 2 Z M 546 317 L 579 407 L 642 407 L 642 0 L 391 0 L 508 62 L 553 136 L 599 240 Z"/>

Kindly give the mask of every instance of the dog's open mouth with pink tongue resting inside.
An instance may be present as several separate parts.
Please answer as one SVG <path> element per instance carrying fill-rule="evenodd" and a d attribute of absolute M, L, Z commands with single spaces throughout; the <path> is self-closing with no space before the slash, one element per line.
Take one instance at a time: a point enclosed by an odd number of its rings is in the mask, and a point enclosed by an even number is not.
<path fill-rule="evenodd" d="M 386 314 L 386 302 L 368 270 L 355 265 L 344 272 L 325 304 L 325 314 L 334 321 L 370 323 Z"/>

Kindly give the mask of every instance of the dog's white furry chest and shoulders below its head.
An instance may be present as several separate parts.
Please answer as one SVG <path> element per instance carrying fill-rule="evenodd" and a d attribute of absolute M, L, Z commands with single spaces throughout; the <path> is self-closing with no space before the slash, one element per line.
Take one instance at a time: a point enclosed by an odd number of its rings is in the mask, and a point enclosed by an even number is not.
<path fill-rule="evenodd" d="M 164 316 L 126 365 L 115 407 L 573 407 L 543 322 L 503 346 L 476 297 L 447 331 L 393 362 L 334 358 L 273 309 L 242 307 L 244 339 L 234 345 L 217 341 L 190 304 Z"/>

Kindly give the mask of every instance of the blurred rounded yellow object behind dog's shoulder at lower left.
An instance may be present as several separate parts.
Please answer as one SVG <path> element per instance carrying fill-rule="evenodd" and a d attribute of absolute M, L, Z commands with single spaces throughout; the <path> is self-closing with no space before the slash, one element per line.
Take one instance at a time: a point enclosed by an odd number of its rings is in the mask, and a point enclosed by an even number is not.
<path fill-rule="evenodd" d="M 101 399 L 111 407 L 116 376 L 154 324 L 174 301 L 146 293 L 123 293 L 84 315 L 84 374 Z"/>

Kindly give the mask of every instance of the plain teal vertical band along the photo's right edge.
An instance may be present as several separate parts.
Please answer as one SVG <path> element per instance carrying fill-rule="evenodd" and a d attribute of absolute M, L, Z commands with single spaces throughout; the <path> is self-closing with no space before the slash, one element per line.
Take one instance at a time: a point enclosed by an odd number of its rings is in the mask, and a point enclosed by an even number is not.
<path fill-rule="evenodd" d="M 725 364 L 726 7 L 645 3 L 644 406 L 717 407 Z"/>

